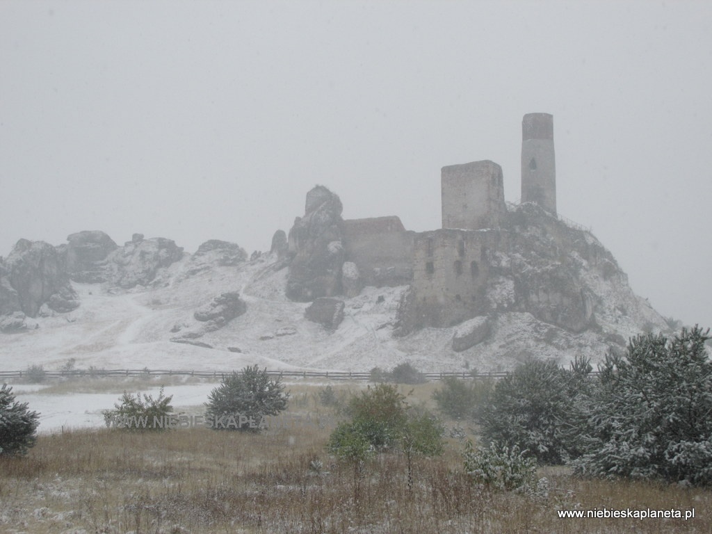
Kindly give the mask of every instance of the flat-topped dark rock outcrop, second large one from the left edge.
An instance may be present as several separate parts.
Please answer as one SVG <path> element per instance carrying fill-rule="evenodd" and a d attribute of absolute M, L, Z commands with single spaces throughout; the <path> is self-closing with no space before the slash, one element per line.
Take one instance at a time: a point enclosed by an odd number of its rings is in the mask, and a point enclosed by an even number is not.
<path fill-rule="evenodd" d="M 100 283 L 107 280 L 106 258 L 117 248 L 103 231 L 80 231 L 68 236 L 60 253 L 73 281 Z"/>

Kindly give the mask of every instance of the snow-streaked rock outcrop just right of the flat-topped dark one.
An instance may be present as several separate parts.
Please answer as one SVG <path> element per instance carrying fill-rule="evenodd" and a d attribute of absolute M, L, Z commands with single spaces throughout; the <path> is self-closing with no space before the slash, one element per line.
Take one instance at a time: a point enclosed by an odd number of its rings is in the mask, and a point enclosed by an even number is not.
<path fill-rule="evenodd" d="M 172 239 L 157 237 L 127 241 L 110 257 L 111 279 L 125 289 L 138 284 L 147 286 L 154 281 L 159 268 L 168 267 L 182 257 L 183 247 L 176 246 Z"/>

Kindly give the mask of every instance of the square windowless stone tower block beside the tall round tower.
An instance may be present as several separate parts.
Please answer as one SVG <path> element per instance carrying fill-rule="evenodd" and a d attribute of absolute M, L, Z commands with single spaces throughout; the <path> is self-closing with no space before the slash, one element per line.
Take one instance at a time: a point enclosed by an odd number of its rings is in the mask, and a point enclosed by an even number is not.
<path fill-rule="evenodd" d="M 498 228 L 507 211 L 502 167 L 489 161 L 443 167 L 443 228 Z"/>

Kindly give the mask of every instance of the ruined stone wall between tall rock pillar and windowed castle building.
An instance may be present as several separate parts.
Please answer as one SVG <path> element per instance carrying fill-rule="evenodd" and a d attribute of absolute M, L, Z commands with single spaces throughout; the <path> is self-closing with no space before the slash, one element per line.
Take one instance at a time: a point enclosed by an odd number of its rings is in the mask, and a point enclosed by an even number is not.
<path fill-rule="evenodd" d="M 413 278 L 415 233 L 397 216 L 344 221 L 346 261 L 358 267 L 366 286 L 402 286 Z"/>

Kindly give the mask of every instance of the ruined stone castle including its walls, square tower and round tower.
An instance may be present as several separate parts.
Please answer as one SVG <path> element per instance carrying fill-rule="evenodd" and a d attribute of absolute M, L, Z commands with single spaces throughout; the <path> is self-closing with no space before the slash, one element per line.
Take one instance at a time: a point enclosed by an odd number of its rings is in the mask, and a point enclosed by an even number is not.
<path fill-rule="evenodd" d="M 558 222 L 552 115 L 525 115 L 522 134 L 521 203 L 538 206 L 539 224 L 541 217 Z M 508 209 L 498 164 L 484 160 L 443 167 L 441 203 L 442 228 L 433 231 L 407 231 L 397 216 L 339 224 L 342 261 L 355 263 L 366 285 L 410 284 L 402 304 L 407 330 L 456 325 L 494 311 L 487 298 L 488 284 L 498 276 L 511 275 L 511 264 L 503 258 L 520 245 L 511 230 L 522 223 L 523 214 Z M 331 287 L 324 295 L 310 291 L 309 295 L 330 296 L 335 290 Z M 522 291 L 528 295 L 528 289 Z M 526 300 L 533 306 L 562 308 L 564 301 L 556 300 L 556 295 L 553 288 L 536 288 Z M 581 324 L 590 313 L 583 315 Z"/>

